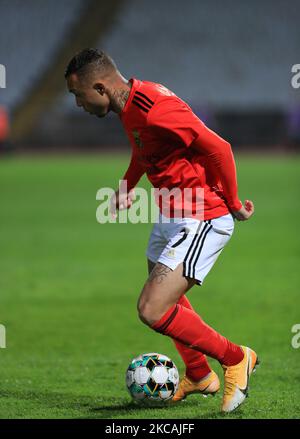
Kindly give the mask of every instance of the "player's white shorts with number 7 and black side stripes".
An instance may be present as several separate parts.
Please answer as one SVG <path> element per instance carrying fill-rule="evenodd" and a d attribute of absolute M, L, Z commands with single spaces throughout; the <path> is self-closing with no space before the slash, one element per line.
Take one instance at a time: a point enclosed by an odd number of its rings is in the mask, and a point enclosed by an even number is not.
<path fill-rule="evenodd" d="M 229 213 L 211 220 L 169 219 L 159 215 L 147 248 L 147 257 L 171 270 L 183 263 L 183 276 L 202 285 L 234 230 Z"/>

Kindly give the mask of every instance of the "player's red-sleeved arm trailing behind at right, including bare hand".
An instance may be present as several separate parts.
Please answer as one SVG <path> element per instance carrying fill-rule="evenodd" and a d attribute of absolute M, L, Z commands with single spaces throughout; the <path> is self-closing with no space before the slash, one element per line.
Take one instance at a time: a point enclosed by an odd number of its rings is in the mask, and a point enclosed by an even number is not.
<path fill-rule="evenodd" d="M 202 124 L 199 136 L 190 147 L 210 160 L 221 181 L 223 194 L 232 214 L 239 221 L 249 219 L 254 213 L 254 204 L 245 200 L 243 205 L 238 198 L 236 166 L 230 143 Z"/>

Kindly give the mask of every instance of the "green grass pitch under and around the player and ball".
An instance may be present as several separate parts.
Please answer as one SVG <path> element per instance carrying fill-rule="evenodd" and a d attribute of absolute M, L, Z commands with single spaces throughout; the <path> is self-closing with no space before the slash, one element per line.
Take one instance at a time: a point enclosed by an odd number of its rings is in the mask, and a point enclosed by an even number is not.
<path fill-rule="evenodd" d="M 184 371 L 172 341 L 137 317 L 151 225 L 96 222 L 97 190 L 115 187 L 127 163 L 112 155 L 0 161 L 1 418 L 223 417 L 222 392 L 143 409 L 125 388 L 127 366 L 143 352 L 164 353 Z M 236 224 L 189 298 L 208 324 L 261 359 L 250 397 L 226 417 L 299 418 L 291 328 L 300 323 L 300 159 L 237 156 L 237 169 L 255 216 Z"/>

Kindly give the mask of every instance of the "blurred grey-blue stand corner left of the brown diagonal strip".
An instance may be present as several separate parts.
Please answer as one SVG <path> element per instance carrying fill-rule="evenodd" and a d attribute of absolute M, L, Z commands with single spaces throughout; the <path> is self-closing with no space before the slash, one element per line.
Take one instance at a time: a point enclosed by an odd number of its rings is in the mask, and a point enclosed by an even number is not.
<path fill-rule="evenodd" d="M 1 1 L 0 62 L 7 71 L 7 87 L 1 91 L 1 104 L 10 111 L 53 61 L 83 3 L 84 0 Z"/>

